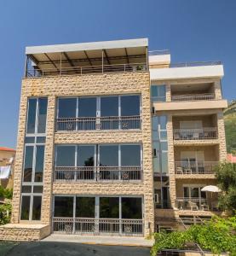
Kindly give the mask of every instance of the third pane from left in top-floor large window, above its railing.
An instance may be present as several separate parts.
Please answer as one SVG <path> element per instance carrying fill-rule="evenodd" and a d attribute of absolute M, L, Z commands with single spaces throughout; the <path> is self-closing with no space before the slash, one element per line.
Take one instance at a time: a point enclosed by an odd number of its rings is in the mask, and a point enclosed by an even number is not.
<path fill-rule="evenodd" d="M 101 116 L 118 116 L 118 96 L 101 97 Z"/>

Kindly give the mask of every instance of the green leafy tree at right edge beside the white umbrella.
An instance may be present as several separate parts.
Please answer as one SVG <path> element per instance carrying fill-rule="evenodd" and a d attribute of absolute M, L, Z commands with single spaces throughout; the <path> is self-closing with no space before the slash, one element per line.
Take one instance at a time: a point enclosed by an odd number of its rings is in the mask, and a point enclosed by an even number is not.
<path fill-rule="evenodd" d="M 216 166 L 216 179 L 222 189 L 219 207 L 230 212 L 236 211 L 236 165 L 222 162 Z"/>

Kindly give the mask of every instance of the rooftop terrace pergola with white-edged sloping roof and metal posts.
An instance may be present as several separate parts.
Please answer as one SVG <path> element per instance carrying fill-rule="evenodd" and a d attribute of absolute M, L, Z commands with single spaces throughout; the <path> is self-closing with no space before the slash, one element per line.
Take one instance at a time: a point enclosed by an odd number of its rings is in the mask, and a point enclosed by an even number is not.
<path fill-rule="evenodd" d="M 147 38 L 141 38 L 26 47 L 25 75 L 143 71 L 147 46 Z"/>

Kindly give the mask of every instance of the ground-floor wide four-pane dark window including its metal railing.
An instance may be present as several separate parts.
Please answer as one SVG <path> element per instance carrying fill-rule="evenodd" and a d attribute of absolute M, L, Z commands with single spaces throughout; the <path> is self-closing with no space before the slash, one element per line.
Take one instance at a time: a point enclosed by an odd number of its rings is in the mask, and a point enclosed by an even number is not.
<path fill-rule="evenodd" d="M 143 236 L 143 199 L 135 196 L 55 195 L 55 233 Z"/>

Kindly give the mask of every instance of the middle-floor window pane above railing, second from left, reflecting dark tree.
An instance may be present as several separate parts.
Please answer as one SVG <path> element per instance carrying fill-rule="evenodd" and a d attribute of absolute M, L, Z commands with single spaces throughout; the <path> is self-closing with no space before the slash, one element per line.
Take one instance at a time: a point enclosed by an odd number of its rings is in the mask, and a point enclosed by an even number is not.
<path fill-rule="evenodd" d="M 94 156 L 94 146 L 78 146 L 77 166 L 94 166 Z"/>

